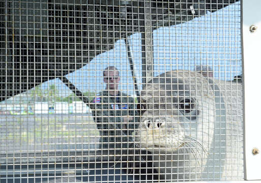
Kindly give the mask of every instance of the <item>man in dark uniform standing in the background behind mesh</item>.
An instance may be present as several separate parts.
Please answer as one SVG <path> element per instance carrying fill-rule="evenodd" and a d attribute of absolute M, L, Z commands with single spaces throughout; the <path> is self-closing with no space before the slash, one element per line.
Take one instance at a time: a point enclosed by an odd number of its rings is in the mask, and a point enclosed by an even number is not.
<path fill-rule="evenodd" d="M 103 71 L 106 87 L 91 102 L 93 115 L 101 132 L 101 145 L 104 149 L 127 148 L 130 136 L 137 121 L 134 121 L 135 103 L 132 97 L 119 90 L 120 72 L 114 66 Z"/>

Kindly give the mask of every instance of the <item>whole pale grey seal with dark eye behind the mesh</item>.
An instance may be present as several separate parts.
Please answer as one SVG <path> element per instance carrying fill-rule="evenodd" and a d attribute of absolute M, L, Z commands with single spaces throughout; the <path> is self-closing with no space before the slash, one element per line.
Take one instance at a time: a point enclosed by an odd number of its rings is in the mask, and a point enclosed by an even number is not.
<path fill-rule="evenodd" d="M 135 147 L 152 154 L 160 179 L 243 179 L 241 84 L 171 71 L 147 83 L 141 101 Z"/>

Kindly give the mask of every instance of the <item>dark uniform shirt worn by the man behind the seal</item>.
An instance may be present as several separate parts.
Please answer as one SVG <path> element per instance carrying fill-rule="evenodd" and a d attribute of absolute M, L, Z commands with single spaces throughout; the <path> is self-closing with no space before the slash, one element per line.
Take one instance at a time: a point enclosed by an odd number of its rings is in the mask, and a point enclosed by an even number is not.
<path fill-rule="evenodd" d="M 95 109 L 93 115 L 102 135 L 101 147 L 127 148 L 128 142 L 131 142 L 129 138 L 138 126 L 134 99 L 121 92 L 118 96 L 111 96 L 108 90 L 103 90 L 91 105 Z M 133 120 L 124 124 L 123 117 L 127 116 L 133 117 Z"/>

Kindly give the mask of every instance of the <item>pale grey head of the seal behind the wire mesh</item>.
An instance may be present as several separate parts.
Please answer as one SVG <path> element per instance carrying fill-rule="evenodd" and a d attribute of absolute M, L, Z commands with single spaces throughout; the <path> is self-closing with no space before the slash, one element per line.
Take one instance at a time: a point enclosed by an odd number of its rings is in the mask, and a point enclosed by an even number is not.
<path fill-rule="evenodd" d="M 135 143 L 159 160 L 154 164 L 159 172 L 169 171 L 173 179 L 179 171 L 186 172 L 186 166 L 188 172 L 200 171 L 213 139 L 213 84 L 196 72 L 166 72 L 142 89 L 141 105 Z"/>

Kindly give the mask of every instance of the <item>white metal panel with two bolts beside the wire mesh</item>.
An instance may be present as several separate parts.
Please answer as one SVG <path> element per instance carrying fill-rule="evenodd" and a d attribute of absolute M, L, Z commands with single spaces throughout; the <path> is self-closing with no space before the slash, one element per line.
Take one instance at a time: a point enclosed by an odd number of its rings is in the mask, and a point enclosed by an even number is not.
<path fill-rule="evenodd" d="M 261 48 L 261 1 L 245 0 L 243 11 L 243 57 L 245 87 L 245 178 L 261 179 L 261 154 L 253 154 L 253 149 L 261 149 L 259 104 L 261 103 L 259 83 Z"/>

